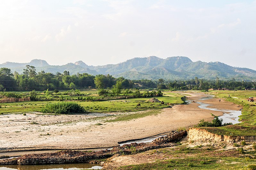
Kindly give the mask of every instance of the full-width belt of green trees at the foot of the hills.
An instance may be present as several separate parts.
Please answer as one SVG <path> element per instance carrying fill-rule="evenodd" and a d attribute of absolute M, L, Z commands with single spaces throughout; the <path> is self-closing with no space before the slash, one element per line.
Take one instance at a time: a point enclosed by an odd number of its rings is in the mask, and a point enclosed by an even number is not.
<path fill-rule="evenodd" d="M 87 73 L 70 75 L 69 71 L 56 74 L 36 72 L 34 66 L 26 65 L 23 74 L 12 73 L 9 68 L 0 68 L 0 91 L 31 91 L 31 90 L 69 90 L 97 88 L 100 95 L 110 93 L 120 94 L 121 89 L 128 88 L 158 88 L 169 90 L 207 90 L 210 88 L 229 88 L 243 90 L 256 88 L 256 82 L 236 81 L 233 79 L 215 80 L 199 79 L 167 81 L 162 78 L 152 80 L 128 80 L 123 77 L 114 78 L 111 75 L 90 75 Z M 139 86 L 136 86 L 139 85 Z"/>

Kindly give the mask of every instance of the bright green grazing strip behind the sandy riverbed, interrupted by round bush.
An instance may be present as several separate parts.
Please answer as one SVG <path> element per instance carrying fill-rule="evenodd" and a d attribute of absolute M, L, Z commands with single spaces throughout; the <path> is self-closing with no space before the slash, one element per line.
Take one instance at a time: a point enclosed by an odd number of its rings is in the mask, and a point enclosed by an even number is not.
<path fill-rule="evenodd" d="M 165 103 L 170 104 L 183 104 L 184 96 L 168 92 L 168 96 L 157 97 L 159 100 L 163 100 Z M 85 107 L 87 112 L 95 113 L 109 113 L 109 112 L 135 112 L 143 110 L 159 110 L 169 107 L 167 105 L 161 105 L 160 103 L 147 102 L 150 98 L 132 98 L 125 100 L 108 100 L 108 101 L 73 101 L 78 102 L 81 106 Z M 14 102 L 14 103 L 2 103 L 0 104 L 0 114 L 10 113 L 26 113 L 26 112 L 39 112 L 41 107 L 47 103 L 54 103 L 59 101 L 26 101 L 26 102 Z M 140 103 L 141 107 L 136 107 Z"/>

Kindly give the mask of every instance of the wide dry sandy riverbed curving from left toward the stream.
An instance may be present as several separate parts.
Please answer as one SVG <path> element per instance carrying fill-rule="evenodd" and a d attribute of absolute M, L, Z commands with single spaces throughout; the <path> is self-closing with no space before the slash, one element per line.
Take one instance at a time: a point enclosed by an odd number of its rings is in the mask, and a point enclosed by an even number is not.
<path fill-rule="evenodd" d="M 189 95 L 190 100 L 197 100 L 204 96 L 201 93 L 189 93 Z M 204 100 L 203 102 L 213 104 L 211 107 L 240 109 L 230 102 L 216 103 L 215 99 Z M 31 153 L 8 153 L 5 152 L 6 150 L 107 148 L 118 145 L 120 141 L 144 138 L 174 129 L 191 127 L 201 119 L 211 121 L 211 113 L 222 115 L 221 112 L 200 109 L 197 103 L 175 105 L 172 108 L 163 109 L 158 115 L 146 116 L 127 122 L 89 121 L 89 118 L 104 114 L 54 116 L 28 113 L 26 116 L 1 115 L 0 156 Z M 97 125 L 96 123 L 102 123 L 103 125 Z"/>

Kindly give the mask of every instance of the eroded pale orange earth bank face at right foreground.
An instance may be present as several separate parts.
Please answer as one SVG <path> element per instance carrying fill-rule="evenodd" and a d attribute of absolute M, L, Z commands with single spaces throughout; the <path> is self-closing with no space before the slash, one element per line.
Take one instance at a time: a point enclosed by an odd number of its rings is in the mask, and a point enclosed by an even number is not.
<path fill-rule="evenodd" d="M 208 132 L 205 129 L 200 128 L 191 128 L 188 130 L 188 140 L 190 141 L 216 141 L 216 142 L 227 142 L 227 143 L 235 143 L 235 142 L 255 142 L 256 136 L 227 136 L 227 135 L 218 135 L 211 132 Z"/>

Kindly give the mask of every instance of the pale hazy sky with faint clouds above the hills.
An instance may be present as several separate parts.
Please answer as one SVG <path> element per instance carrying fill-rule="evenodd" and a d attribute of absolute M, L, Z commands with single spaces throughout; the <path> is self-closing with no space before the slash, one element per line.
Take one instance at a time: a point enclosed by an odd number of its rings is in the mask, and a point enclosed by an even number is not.
<path fill-rule="evenodd" d="M 256 70 L 256 0 L 1 0 L 0 63 L 187 56 Z"/>

